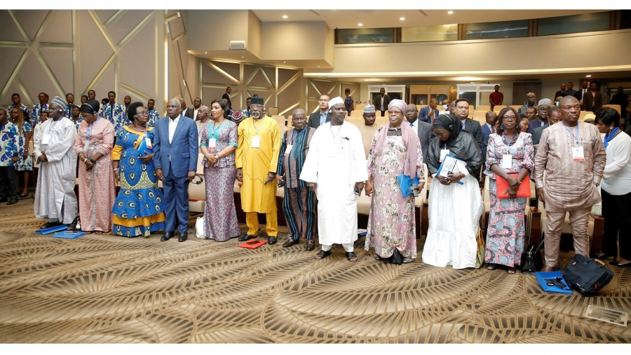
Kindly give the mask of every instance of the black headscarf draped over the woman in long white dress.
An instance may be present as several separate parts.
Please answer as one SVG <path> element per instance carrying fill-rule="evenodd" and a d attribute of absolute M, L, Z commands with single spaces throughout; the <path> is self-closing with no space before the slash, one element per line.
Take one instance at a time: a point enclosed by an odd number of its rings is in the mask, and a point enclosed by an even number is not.
<path fill-rule="evenodd" d="M 440 149 L 449 149 L 449 154 L 467 163 L 468 172 L 477 180 L 482 166 L 482 152 L 473 135 L 461 131 L 460 120 L 453 114 L 436 117 L 432 128 L 449 130 L 449 139 L 445 142 L 438 138 L 430 140 L 426 161 L 430 175 L 437 173 L 440 168 Z"/>

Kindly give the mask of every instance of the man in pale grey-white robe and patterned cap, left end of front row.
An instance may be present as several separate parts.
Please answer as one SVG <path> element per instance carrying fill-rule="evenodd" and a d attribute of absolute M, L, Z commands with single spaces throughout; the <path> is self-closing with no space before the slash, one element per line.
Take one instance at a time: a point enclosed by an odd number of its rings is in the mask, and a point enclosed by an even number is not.
<path fill-rule="evenodd" d="M 35 190 L 35 217 L 48 218 L 44 228 L 67 225 L 76 217 L 76 154 L 74 122 L 64 116 L 66 102 L 55 96 L 34 137 L 35 159 L 40 162 Z"/>

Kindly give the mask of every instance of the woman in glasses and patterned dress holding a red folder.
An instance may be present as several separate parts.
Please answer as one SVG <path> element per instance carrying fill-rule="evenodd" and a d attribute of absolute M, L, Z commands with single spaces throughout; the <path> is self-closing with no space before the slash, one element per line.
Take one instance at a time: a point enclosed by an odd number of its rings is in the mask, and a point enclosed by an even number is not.
<path fill-rule="evenodd" d="M 506 107 L 498 114 L 500 129 L 489 135 L 487 170 L 484 170 L 484 174 L 489 176 L 491 198 L 484 262 L 489 264 L 489 270 L 495 269 L 497 264 L 506 265 L 508 274 L 515 274 L 515 265 L 521 262 L 526 235 L 524 210 L 528 199 L 516 197 L 517 189 L 534 168 L 532 136 L 520 132 L 517 126 L 519 118 L 520 115 L 513 107 Z M 517 174 L 517 178 L 508 174 Z M 508 195 L 511 198 L 498 199 L 498 176 L 508 180 Z M 524 183 L 529 184 L 526 181 Z"/>

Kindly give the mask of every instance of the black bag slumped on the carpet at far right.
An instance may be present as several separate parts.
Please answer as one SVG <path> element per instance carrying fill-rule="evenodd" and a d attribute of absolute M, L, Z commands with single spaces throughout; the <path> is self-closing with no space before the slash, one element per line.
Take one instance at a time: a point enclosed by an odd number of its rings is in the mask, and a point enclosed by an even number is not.
<path fill-rule="evenodd" d="M 613 279 L 613 272 L 597 259 L 576 254 L 563 272 L 563 279 L 584 296 L 593 296 Z"/>

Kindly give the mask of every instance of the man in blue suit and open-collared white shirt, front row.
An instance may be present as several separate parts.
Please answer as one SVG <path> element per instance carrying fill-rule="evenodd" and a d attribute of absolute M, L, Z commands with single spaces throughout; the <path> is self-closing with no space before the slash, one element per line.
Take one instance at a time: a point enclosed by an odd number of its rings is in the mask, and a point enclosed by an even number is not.
<path fill-rule="evenodd" d="M 177 241 L 186 241 L 189 227 L 188 183 L 197 170 L 197 126 L 189 117 L 182 116 L 179 101 L 169 100 L 167 116 L 158 119 L 154 133 L 154 165 L 164 187 L 165 232 L 161 241 L 174 234 Z"/>

